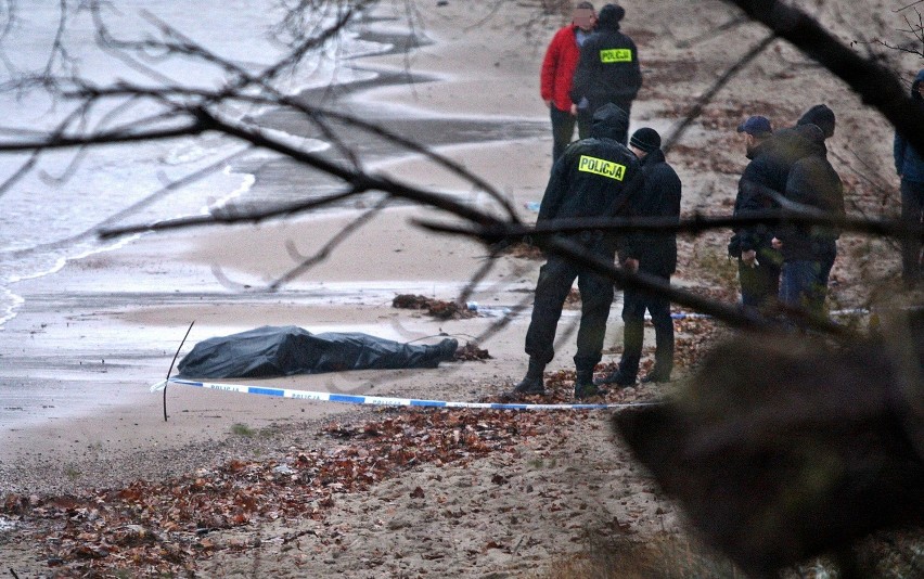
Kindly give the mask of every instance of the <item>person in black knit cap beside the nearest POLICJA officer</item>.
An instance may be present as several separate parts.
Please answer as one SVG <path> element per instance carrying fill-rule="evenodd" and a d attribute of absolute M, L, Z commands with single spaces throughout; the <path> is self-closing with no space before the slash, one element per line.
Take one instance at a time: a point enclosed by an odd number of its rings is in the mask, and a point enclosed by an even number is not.
<path fill-rule="evenodd" d="M 632 133 L 629 150 L 640 159 L 644 176 L 643 193 L 631 206 L 633 217 L 669 217 L 680 219 L 682 184 L 660 150 L 660 136 L 643 127 Z M 630 233 L 619 239 L 623 268 L 659 278 L 665 285 L 677 270 L 677 233 Z M 673 369 L 673 320 L 670 301 L 627 287 L 623 293 L 624 349 L 619 368 L 599 384 L 629 386 L 636 383 L 644 340 L 645 310 L 655 327 L 655 363 L 642 382 L 669 382 Z"/>

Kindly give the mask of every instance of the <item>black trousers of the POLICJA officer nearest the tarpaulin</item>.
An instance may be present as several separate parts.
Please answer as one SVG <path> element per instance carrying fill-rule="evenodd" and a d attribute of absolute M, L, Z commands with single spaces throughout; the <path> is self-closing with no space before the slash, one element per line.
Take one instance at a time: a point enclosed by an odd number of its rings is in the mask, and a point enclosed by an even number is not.
<path fill-rule="evenodd" d="M 599 255 L 613 261 L 615 252 L 603 252 Z M 550 257 L 539 270 L 532 319 L 529 330 L 526 331 L 526 353 L 543 364 L 548 364 L 555 357 L 555 332 L 562 317 L 562 307 L 575 279 L 578 281 L 581 298 L 575 366 L 578 370 L 593 370 L 602 358 L 606 319 L 613 304 L 613 282 L 555 256 Z"/>

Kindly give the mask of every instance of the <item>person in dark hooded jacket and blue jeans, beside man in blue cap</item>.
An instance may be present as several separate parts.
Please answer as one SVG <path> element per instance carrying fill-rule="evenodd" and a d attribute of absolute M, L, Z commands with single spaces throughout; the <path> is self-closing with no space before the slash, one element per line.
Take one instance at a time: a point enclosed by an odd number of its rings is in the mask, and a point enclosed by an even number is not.
<path fill-rule="evenodd" d="M 807 113 L 794 129 L 805 138 L 808 154 L 790 169 L 785 198 L 843 218 L 844 185 L 827 160 L 824 144 L 825 139 L 834 134 L 833 113 L 829 115 L 822 111 L 821 114 L 822 119 L 819 119 Z M 837 255 L 839 234 L 837 227 L 829 226 L 784 223 L 779 228 L 773 245 L 783 254 L 780 301 L 824 316 L 827 280 Z"/>

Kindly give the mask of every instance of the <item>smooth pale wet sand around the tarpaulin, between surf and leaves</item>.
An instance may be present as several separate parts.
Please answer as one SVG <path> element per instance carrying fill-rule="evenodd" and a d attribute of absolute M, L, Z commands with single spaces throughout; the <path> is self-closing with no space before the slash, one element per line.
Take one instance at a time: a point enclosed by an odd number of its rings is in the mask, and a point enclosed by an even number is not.
<path fill-rule="evenodd" d="M 409 137 L 444 144 L 441 153 L 495 183 L 515 206 L 538 201 L 549 171 L 551 143 L 547 132 L 537 130 L 547 120 L 538 98 L 534 56 L 524 50 L 522 62 L 509 63 L 497 74 L 495 81 L 502 79 L 516 91 L 516 99 L 498 93 L 495 104 L 473 105 L 473 94 L 478 99 L 487 95 L 482 89 L 491 81 L 490 75 L 447 62 L 465 60 L 465 51 L 460 52 L 458 46 L 465 38 L 440 38 L 438 26 L 445 24 L 428 28 L 436 42 L 420 49 L 416 57 L 424 73 L 433 65 L 454 70 L 451 78 L 440 74 L 444 79 L 435 83 L 351 93 L 345 97 L 344 110 L 371 111 L 375 107 L 370 103 L 385 102 L 386 112 L 399 106 L 407 117 L 412 110 L 420 114 L 429 108 L 432 121 L 407 120 L 396 127 L 412 127 Z M 365 59 L 362 66 L 397 74 L 405 64 L 402 56 L 386 54 Z M 477 86 L 472 83 L 474 78 Z M 434 99 L 441 101 L 447 94 L 463 103 L 454 107 L 453 115 L 439 105 L 431 106 Z M 510 102 L 517 103 L 515 110 L 506 104 Z M 499 113 L 503 116 L 496 118 Z M 504 128 L 517 126 L 512 115 L 528 128 L 525 133 L 510 133 Z M 447 144 L 458 143 L 459 134 L 453 131 L 460 127 L 478 129 L 467 132 L 473 144 Z M 506 140 L 484 143 L 485 127 L 496 127 L 497 134 Z M 384 153 L 372 157 L 372 169 L 452 194 L 470 194 L 470 186 L 434 169 L 432 163 L 413 155 L 389 158 Z M 291 186 L 301 179 L 298 170 L 290 165 L 258 172 L 255 188 Z M 295 324 L 312 332 L 360 331 L 408 342 L 436 342 L 437 336 L 449 334 L 464 343 L 493 323 L 493 318 L 439 321 L 390 307 L 399 293 L 454 299 L 486 255 L 474 242 L 434 236 L 412 227 L 411 218 L 439 216 L 410 207 L 376 215 L 330 259 L 282 291 L 261 290 L 293 266 L 286 242 L 310 255 L 357 215 L 356 209 L 338 209 L 257 227 L 149 234 L 120 249 L 72 261 L 53 275 L 16 284 L 25 304 L 0 330 L 0 491 L 129 479 L 144 473 L 141 458 L 190 445 L 207 447 L 227 438 L 234 424 L 252 428 L 298 425 L 357 412 L 355 407 L 332 403 L 170 387 L 170 420 L 165 423 L 162 396 L 150 394 L 149 387 L 164 378 L 193 321 L 183 353 L 206 337 L 264 324 Z M 532 218 L 525 210 L 522 217 Z M 485 306 L 515 307 L 524 298 L 528 300 L 537 270 L 537 262 L 501 260 L 471 299 Z M 487 363 L 296 376 L 267 383 L 309 390 L 474 399 L 518 377 L 525 323 L 519 317 L 482 344 L 493 356 Z M 557 358 L 563 365 L 570 362 L 567 349 L 565 344 Z M 120 461 L 119 456 L 136 459 Z M 98 467 L 119 464 L 119 472 L 67 474 L 68 465 L 97 459 Z"/>

